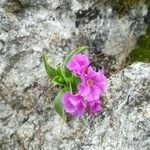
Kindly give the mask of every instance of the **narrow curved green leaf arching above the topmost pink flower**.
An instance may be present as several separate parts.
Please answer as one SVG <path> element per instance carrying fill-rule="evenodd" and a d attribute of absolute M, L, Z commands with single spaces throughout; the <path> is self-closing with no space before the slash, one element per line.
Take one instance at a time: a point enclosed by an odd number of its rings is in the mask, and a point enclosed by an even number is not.
<path fill-rule="evenodd" d="M 82 46 L 77 48 L 76 50 L 72 51 L 65 59 L 64 63 L 62 64 L 62 69 L 65 69 L 67 62 L 72 58 L 72 56 L 82 52 L 83 50 L 85 50 L 86 48 L 88 48 L 87 46 Z"/>

